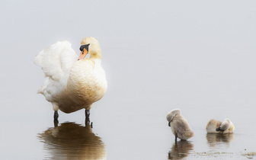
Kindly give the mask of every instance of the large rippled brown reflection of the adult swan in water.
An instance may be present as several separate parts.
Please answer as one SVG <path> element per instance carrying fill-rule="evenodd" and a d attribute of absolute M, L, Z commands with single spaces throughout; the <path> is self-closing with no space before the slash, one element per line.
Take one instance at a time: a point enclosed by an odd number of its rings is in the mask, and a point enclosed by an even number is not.
<path fill-rule="evenodd" d="M 50 159 L 107 159 L 104 142 L 91 126 L 62 123 L 38 134 Z"/>

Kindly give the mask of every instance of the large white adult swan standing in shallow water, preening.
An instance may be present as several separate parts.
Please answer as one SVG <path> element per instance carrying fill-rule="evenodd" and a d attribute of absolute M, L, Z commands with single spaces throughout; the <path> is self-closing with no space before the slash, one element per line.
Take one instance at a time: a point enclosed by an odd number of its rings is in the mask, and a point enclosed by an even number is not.
<path fill-rule="evenodd" d="M 80 50 L 78 58 L 71 43 L 61 41 L 41 51 L 34 59 L 45 74 L 45 82 L 38 93 L 53 104 L 54 119 L 59 117 L 57 110 L 69 114 L 82 108 L 89 117 L 91 104 L 100 100 L 107 91 L 98 40 L 86 37 Z M 87 53 L 90 58 L 85 59 Z"/>

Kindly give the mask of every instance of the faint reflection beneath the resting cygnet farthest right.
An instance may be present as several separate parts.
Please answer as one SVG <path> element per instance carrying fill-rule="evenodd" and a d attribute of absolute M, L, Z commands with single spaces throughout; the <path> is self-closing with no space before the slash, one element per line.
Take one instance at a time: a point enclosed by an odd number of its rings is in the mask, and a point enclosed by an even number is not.
<path fill-rule="evenodd" d="M 207 133 L 206 139 L 210 147 L 214 147 L 216 145 L 229 146 L 229 142 L 232 142 L 234 140 L 234 134 L 233 133 L 225 133 L 225 134 Z"/>

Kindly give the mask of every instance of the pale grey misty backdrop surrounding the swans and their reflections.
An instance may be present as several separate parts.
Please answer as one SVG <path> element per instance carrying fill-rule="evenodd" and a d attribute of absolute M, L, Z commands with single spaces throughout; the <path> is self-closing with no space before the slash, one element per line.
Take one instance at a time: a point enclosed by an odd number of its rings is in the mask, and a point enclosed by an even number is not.
<path fill-rule="evenodd" d="M 2 158 L 46 155 L 37 133 L 53 126 L 53 110 L 37 94 L 43 72 L 34 57 L 58 40 L 69 40 L 79 54 L 80 41 L 89 36 L 101 45 L 107 74 L 107 94 L 93 104 L 91 121 L 108 159 L 166 159 L 174 136 L 165 116 L 176 107 L 195 132 L 190 139 L 195 152 L 208 151 L 207 121 L 226 117 L 238 136 L 245 135 L 227 151 L 252 152 L 255 5 L 231 0 L 0 2 Z M 59 112 L 60 123 L 84 120 L 84 110 Z"/>

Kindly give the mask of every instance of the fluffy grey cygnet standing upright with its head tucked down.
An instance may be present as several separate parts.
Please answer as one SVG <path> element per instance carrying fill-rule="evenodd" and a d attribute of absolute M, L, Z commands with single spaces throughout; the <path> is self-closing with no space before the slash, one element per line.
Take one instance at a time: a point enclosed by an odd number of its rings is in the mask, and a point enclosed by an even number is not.
<path fill-rule="evenodd" d="M 167 114 L 166 119 L 168 120 L 168 125 L 171 126 L 171 131 L 175 136 L 175 142 L 177 142 L 177 137 L 182 140 L 187 140 L 194 136 L 187 120 L 181 116 L 180 109 L 171 110 L 171 112 Z"/>

